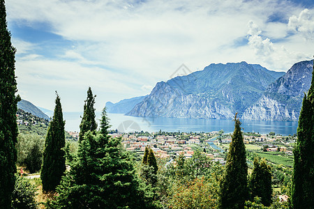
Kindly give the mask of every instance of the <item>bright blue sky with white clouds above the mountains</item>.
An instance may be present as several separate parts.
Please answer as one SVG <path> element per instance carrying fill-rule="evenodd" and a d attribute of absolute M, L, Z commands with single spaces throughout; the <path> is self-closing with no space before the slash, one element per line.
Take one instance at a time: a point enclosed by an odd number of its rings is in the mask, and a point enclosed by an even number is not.
<path fill-rule="evenodd" d="M 18 93 L 38 107 L 83 111 L 147 95 L 211 63 L 287 71 L 313 59 L 313 0 L 6 0 Z M 178 70 L 179 69 L 179 70 Z"/>

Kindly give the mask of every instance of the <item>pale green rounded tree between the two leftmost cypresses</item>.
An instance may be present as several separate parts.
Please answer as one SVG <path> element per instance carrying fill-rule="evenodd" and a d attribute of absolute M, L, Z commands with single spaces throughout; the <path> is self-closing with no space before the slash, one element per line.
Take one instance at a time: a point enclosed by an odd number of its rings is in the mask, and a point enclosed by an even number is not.
<path fill-rule="evenodd" d="M 38 134 L 19 134 L 17 137 L 17 164 L 31 173 L 40 171 L 45 139 Z"/>

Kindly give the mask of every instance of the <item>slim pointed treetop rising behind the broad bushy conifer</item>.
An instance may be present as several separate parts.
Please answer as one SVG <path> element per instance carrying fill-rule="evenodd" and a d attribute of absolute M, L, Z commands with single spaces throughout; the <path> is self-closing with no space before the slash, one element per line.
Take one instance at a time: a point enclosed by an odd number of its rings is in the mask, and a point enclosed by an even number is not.
<path fill-rule="evenodd" d="M 82 122 L 80 124 L 80 134 L 79 134 L 79 140 L 82 141 L 84 134 L 87 131 L 95 132 L 97 128 L 97 123 L 95 120 L 95 98 L 96 95 L 93 96 L 93 93 L 91 92 L 91 87 L 89 87 L 89 90 L 87 91 L 87 100 L 85 100 L 84 103 L 84 113 L 82 117 Z"/>

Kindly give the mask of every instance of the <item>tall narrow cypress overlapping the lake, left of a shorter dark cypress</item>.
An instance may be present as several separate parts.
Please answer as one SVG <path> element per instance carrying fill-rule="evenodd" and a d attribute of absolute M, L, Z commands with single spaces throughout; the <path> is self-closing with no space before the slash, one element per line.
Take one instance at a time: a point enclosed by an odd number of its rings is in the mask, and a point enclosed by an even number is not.
<path fill-rule="evenodd" d="M 220 181 L 220 208 L 244 208 L 248 200 L 248 165 L 246 164 L 246 147 L 241 133 L 241 122 L 234 116 L 234 132 L 227 154 L 225 173 Z"/>

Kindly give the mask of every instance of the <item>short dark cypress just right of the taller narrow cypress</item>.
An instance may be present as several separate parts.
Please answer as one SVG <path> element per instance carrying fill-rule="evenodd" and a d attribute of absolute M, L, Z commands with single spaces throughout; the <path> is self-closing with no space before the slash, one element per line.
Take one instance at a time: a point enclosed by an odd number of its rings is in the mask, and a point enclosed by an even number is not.
<path fill-rule="evenodd" d="M 271 167 L 267 166 L 266 160 L 259 162 L 258 158 L 254 159 L 254 169 L 250 180 L 251 201 L 255 196 L 259 196 L 264 206 L 271 204 Z"/>

